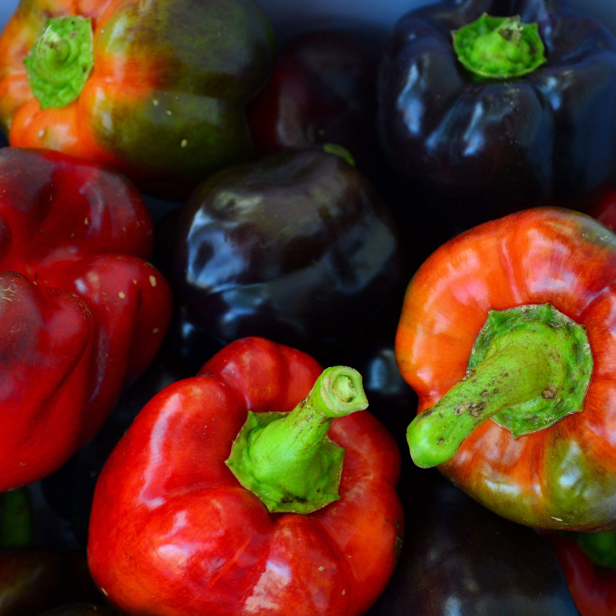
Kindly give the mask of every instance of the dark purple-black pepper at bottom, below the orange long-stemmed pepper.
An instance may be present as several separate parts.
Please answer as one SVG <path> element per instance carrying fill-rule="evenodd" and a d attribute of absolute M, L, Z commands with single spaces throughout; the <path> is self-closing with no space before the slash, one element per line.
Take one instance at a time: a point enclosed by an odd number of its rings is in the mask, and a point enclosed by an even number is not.
<path fill-rule="evenodd" d="M 366 616 L 579 616 L 535 530 L 496 516 L 434 471 L 406 468 L 403 477 L 405 543 Z"/>

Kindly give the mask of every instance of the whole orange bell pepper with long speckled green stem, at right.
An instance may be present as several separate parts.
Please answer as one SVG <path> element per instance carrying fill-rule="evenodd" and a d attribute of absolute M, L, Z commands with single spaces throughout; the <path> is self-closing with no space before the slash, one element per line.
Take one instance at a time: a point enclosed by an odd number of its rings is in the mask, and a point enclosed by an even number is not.
<path fill-rule="evenodd" d="M 616 527 L 616 235 L 535 208 L 435 251 L 395 339 L 418 466 L 535 528 Z M 487 421 L 490 419 L 489 421 Z"/>

